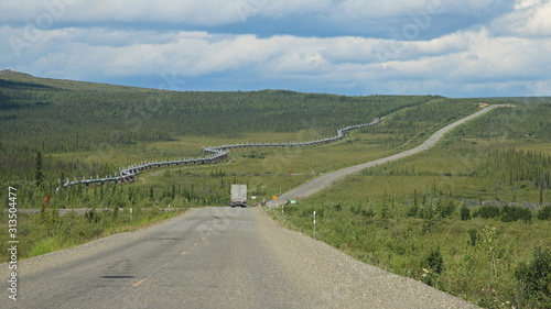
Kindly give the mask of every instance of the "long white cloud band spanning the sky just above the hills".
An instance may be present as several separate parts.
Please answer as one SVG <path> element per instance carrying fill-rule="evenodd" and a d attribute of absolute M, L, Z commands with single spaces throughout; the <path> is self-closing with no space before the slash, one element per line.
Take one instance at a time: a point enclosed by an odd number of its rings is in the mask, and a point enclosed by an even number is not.
<path fill-rule="evenodd" d="M 194 78 L 231 70 L 248 74 L 253 67 L 258 78 L 323 76 L 328 82 L 537 79 L 551 71 L 551 60 L 542 62 L 551 53 L 551 40 L 494 37 L 484 29 L 414 42 L 290 35 L 259 38 L 184 31 L 109 33 L 104 29 L 44 31 L 20 64 L 30 73 L 55 73 L 65 78 L 82 78 L 85 73 L 131 77 L 163 71 Z M 54 43 L 55 48 L 51 47 Z M 381 44 L 399 48 L 387 51 L 388 58 L 381 58 L 376 53 Z"/>

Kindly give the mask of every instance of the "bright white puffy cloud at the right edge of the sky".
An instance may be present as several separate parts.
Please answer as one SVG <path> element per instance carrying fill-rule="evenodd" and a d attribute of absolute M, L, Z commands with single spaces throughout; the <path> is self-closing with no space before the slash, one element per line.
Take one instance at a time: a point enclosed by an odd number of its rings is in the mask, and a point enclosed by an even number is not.
<path fill-rule="evenodd" d="M 461 46 L 453 53 L 392 60 L 385 67 L 396 78 L 435 78 L 449 82 L 540 79 L 551 71 L 551 60 L 542 62 L 551 53 L 551 40 L 493 37 L 486 30 L 454 36 Z"/>

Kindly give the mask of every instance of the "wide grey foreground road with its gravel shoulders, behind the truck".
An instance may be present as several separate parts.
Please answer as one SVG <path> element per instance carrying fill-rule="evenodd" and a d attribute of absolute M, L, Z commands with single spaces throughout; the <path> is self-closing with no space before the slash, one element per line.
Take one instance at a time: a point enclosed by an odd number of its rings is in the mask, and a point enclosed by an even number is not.
<path fill-rule="evenodd" d="M 287 230 L 260 208 L 192 209 L 22 261 L 18 272 L 18 301 L 3 288 L 0 308 L 475 308 Z"/>

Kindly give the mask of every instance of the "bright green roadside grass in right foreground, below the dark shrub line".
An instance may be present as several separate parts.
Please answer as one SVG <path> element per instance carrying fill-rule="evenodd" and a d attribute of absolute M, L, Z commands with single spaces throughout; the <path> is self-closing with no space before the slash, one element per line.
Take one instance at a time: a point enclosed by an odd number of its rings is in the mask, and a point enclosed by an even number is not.
<path fill-rule="evenodd" d="M 338 202 L 303 201 L 299 206 L 285 206 L 284 213 L 268 211 L 287 227 L 313 236 L 315 210 L 316 239 L 365 263 L 490 308 L 507 301 L 515 304 L 515 297 L 519 296 L 515 279 L 518 262 L 530 261 L 534 247 L 551 238 L 550 221 L 534 220 L 530 224 L 479 218 L 461 221 L 454 212 L 451 218 L 437 220 L 432 232 L 423 232 L 424 220 L 403 217 L 400 214 L 403 206 L 399 203 L 387 201 L 387 220 L 381 217 L 380 202 L 337 206 Z M 491 229 L 495 229 L 494 234 Z M 469 244 L 469 230 L 478 234 L 475 245 Z M 426 261 L 434 250 L 443 257 L 440 273 Z M 490 294 L 486 293 L 488 288 Z"/>

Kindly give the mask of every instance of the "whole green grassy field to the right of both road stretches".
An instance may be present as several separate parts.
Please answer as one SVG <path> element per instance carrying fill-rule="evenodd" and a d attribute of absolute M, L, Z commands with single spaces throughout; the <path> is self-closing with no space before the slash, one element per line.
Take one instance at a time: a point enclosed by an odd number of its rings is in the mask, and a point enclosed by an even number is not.
<path fill-rule="evenodd" d="M 540 207 L 527 210 L 527 218 L 511 217 L 521 212 L 516 208 L 497 208 L 490 217 L 493 208 L 465 206 L 551 205 L 549 135 L 479 139 L 467 133 L 476 125 L 453 131 L 431 151 L 366 169 L 287 205 L 283 213 L 267 211 L 311 236 L 316 211 L 316 239 L 475 305 L 549 308 L 551 218 L 543 218 Z M 505 157 L 515 161 L 504 165 Z M 520 166 L 526 175 L 517 179 Z M 531 280 L 522 275 L 527 265 L 543 268 Z"/>

